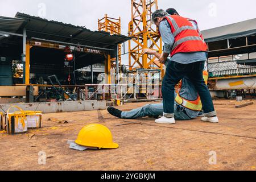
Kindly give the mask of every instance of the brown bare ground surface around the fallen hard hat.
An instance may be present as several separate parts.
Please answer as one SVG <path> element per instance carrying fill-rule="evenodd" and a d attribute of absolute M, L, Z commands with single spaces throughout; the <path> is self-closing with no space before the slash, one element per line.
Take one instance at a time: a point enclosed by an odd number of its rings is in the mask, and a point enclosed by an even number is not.
<path fill-rule="evenodd" d="M 129 110 L 147 103 L 118 106 Z M 0 170 L 256 170 L 256 102 L 235 109 L 233 101 L 214 101 L 220 123 L 177 121 L 160 125 L 152 118 L 127 123 L 107 110 L 43 114 L 43 128 L 28 134 L 0 133 Z M 67 119 L 69 123 L 48 121 Z M 69 149 L 83 126 L 100 123 L 112 131 L 114 150 Z M 31 135 L 34 135 L 31 139 Z M 39 165 L 39 152 L 46 164 Z M 209 154 L 216 152 L 217 164 Z"/>

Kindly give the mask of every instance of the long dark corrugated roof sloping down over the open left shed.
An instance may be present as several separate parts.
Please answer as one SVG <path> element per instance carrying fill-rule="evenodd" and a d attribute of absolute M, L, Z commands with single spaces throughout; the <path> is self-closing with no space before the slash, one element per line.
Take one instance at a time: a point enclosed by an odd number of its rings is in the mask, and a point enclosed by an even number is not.
<path fill-rule="evenodd" d="M 113 48 L 130 39 L 124 35 L 110 35 L 104 31 L 90 31 L 85 27 L 47 20 L 19 12 L 15 17 L 29 20 L 26 25 L 28 38 L 35 37 L 74 44 L 80 43 L 102 48 Z"/>

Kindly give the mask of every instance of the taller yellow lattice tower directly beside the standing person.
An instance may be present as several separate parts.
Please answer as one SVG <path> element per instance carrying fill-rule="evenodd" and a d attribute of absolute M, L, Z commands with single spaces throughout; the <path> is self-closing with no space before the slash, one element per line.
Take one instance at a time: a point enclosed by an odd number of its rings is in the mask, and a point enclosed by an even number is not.
<path fill-rule="evenodd" d="M 131 22 L 129 23 L 129 66 L 134 68 L 161 69 L 163 65 L 155 56 L 142 55 L 143 48 L 162 53 L 162 40 L 158 29 L 151 22 L 152 13 L 158 9 L 158 1 L 131 0 Z M 163 76 L 163 73 L 162 73 Z"/>

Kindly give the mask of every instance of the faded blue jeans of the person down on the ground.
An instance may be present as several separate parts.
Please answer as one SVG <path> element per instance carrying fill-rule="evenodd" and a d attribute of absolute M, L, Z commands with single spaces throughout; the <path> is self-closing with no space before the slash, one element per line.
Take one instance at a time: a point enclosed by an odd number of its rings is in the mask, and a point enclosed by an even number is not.
<path fill-rule="evenodd" d="M 188 117 L 185 113 L 184 108 L 179 105 L 174 105 L 174 113 L 176 120 L 190 120 L 192 118 Z M 147 104 L 138 109 L 133 109 L 131 111 L 123 111 L 121 118 L 123 119 L 137 119 L 143 117 L 154 117 L 157 118 L 163 115 L 163 104 Z"/>

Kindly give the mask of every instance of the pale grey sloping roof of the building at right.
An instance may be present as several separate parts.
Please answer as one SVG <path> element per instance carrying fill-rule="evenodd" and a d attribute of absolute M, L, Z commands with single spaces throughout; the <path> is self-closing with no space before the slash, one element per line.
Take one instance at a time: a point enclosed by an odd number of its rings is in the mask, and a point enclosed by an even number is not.
<path fill-rule="evenodd" d="M 235 39 L 256 34 L 256 18 L 202 31 L 205 42 Z"/>

